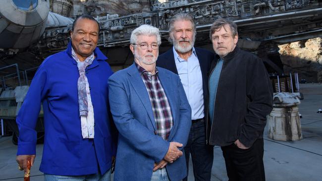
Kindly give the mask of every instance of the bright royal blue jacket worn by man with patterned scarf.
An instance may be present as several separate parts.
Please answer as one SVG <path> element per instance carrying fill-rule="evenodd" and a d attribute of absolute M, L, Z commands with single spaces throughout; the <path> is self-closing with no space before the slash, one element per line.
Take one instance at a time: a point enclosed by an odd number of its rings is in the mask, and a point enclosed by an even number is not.
<path fill-rule="evenodd" d="M 19 128 L 17 155 L 36 154 L 35 125 L 41 103 L 45 142 L 40 171 L 53 175 L 104 174 L 115 155 L 115 128 L 109 118 L 107 57 L 96 48 L 95 60 L 86 68 L 94 106 L 95 137 L 83 139 L 78 108 L 76 61 L 67 49 L 44 60 L 39 67 L 16 118 Z M 99 166 L 99 167 L 98 167 Z"/>

